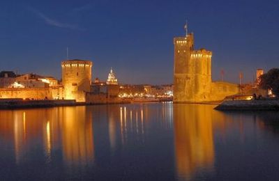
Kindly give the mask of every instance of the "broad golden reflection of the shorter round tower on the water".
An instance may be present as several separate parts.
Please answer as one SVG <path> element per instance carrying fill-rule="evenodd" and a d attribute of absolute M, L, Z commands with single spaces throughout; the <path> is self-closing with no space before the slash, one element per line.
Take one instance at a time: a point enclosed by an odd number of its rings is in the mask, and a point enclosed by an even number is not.
<path fill-rule="evenodd" d="M 63 159 L 69 165 L 89 164 L 93 159 L 93 125 L 86 107 L 65 107 L 59 113 Z"/>

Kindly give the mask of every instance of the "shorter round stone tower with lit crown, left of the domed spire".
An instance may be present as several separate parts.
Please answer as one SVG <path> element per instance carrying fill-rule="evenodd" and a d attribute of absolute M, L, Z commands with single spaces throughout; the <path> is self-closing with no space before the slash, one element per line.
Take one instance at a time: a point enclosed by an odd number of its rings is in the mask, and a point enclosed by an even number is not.
<path fill-rule="evenodd" d="M 86 92 L 91 86 L 91 61 L 68 60 L 62 61 L 62 84 L 64 86 L 63 98 L 85 102 Z"/>

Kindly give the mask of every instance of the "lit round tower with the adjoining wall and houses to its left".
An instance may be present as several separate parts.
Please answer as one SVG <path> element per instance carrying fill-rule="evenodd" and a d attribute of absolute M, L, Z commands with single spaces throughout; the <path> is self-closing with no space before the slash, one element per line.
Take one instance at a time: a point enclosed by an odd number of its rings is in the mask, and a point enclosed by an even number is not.
<path fill-rule="evenodd" d="M 38 74 L 0 73 L 0 99 L 86 101 L 91 88 L 91 61 L 62 61 L 62 82 Z"/>

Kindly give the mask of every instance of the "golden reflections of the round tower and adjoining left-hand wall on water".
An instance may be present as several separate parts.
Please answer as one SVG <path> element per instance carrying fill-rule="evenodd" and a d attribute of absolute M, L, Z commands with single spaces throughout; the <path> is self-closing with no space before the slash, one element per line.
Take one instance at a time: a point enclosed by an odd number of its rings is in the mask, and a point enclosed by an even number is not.
<path fill-rule="evenodd" d="M 93 161 L 93 120 L 86 107 L 1 111 L 0 132 L 3 139 L 13 142 L 16 164 L 32 157 L 31 150 L 42 143 L 45 162 L 59 148 L 68 166 Z"/>

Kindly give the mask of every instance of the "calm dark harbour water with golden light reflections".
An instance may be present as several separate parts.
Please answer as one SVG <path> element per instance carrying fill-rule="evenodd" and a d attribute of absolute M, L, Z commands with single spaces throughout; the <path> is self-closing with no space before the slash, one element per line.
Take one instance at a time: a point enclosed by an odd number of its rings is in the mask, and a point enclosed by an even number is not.
<path fill-rule="evenodd" d="M 1 180 L 279 180 L 279 112 L 213 107 L 0 111 Z"/>

